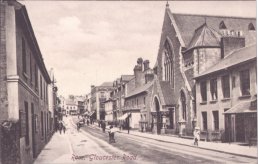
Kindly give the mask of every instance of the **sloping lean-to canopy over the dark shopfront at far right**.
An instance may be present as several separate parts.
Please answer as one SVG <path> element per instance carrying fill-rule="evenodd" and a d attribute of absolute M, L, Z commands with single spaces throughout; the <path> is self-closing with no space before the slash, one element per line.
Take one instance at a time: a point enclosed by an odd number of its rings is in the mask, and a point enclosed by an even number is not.
<path fill-rule="evenodd" d="M 257 100 L 241 102 L 230 108 L 224 114 L 256 113 L 256 101 Z"/>

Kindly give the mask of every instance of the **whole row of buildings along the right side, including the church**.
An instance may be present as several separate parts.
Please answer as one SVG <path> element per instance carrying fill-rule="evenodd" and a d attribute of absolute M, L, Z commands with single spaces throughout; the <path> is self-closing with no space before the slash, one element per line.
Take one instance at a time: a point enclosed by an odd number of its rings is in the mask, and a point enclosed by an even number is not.
<path fill-rule="evenodd" d="M 223 142 L 257 137 L 256 19 L 172 13 L 156 64 L 92 86 L 90 116 L 121 128 Z"/>

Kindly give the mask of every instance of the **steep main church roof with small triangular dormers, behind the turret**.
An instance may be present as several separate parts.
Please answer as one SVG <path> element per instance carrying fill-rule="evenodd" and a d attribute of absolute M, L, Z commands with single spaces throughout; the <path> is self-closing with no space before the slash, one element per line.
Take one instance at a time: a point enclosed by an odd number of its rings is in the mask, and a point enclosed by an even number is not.
<path fill-rule="evenodd" d="M 190 15 L 171 13 L 176 22 L 177 29 L 188 47 L 193 38 L 195 30 L 206 22 L 208 27 L 219 32 L 219 25 L 223 21 L 228 30 L 243 31 L 243 36 L 246 38 L 246 45 L 256 42 L 256 34 L 248 30 L 249 23 L 256 26 L 255 18 L 240 18 L 240 17 L 225 17 L 225 16 L 208 16 L 208 15 Z M 256 28 L 256 27 L 255 27 Z"/>

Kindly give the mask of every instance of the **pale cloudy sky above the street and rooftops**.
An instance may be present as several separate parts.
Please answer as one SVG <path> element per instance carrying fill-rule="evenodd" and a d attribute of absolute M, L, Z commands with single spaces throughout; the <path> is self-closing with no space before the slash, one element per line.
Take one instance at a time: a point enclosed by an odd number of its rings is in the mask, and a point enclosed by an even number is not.
<path fill-rule="evenodd" d="M 165 1 L 21 1 L 59 94 L 133 74 L 137 58 L 156 62 Z M 175 13 L 256 17 L 256 1 L 169 2 Z"/>

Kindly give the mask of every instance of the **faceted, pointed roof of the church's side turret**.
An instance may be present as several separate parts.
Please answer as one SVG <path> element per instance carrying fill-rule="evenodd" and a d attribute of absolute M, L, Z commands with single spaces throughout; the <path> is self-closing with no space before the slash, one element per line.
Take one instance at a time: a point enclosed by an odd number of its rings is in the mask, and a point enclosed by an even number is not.
<path fill-rule="evenodd" d="M 206 23 L 195 30 L 194 36 L 189 43 L 188 49 L 194 47 L 212 46 L 220 47 L 221 35 Z"/>

